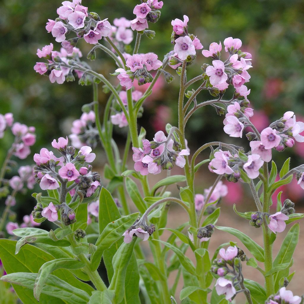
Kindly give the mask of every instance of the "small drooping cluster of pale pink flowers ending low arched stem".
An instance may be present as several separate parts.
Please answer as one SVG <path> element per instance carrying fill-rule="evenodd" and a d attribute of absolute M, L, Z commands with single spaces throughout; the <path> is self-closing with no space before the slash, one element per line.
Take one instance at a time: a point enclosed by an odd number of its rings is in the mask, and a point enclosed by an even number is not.
<path fill-rule="evenodd" d="M 141 219 L 138 218 L 135 223 L 123 233 L 123 241 L 128 244 L 134 236 L 146 241 L 154 231 L 154 224 L 148 225 L 144 217 Z"/>

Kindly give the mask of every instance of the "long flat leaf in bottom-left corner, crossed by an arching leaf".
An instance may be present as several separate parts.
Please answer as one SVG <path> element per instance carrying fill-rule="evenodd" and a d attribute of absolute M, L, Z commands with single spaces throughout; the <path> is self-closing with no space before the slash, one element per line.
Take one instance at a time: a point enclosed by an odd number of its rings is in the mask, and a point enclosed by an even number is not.
<path fill-rule="evenodd" d="M 29 272 L 15 272 L 1 277 L 1 281 L 20 285 L 33 289 L 37 274 Z M 78 289 L 54 275 L 49 275 L 42 292 L 46 295 L 55 296 L 71 304 L 87 304 L 90 297 L 81 289 Z"/>

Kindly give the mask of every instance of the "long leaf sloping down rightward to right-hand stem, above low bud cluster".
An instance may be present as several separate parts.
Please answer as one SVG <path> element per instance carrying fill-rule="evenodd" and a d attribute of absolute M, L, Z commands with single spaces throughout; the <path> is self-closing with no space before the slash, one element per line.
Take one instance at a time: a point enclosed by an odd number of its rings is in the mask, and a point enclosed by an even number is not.
<path fill-rule="evenodd" d="M 228 232 L 235 237 L 237 237 L 251 252 L 251 254 L 257 259 L 259 262 L 264 262 L 264 249 L 258 245 L 254 240 L 248 237 L 245 233 L 240 232 L 237 229 L 230 228 L 230 227 L 220 227 L 216 226 L 216 229 Z"/>

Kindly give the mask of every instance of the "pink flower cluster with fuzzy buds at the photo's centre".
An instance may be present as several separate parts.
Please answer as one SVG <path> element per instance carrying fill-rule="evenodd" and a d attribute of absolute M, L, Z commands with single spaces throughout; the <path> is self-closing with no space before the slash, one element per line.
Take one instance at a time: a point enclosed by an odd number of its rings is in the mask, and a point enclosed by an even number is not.
<path fill-rule="evenodd" d="M 141 175 L 159 174 L 161 170 L 171 170 L 174 162 L 184 168 L 186 160 L 184 155 L 189 155 L 188 149 L 180 150 L 178 143 L 170 132 L 165 136 L 163 131 L 155 133 L 153 141 L 143 140 L 143 149 L 133 147 L 134 170 Z"/>

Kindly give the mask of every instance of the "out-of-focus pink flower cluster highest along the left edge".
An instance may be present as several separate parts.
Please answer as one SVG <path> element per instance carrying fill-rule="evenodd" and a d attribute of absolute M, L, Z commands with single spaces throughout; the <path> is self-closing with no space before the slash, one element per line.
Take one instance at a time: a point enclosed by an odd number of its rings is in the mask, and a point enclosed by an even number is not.
<path fill-rule="evenodd" d="M 35 127 L 26 126 L 21 123 L 13 123 L 14 118 L 12 113 L 0 114 L 0 138 L 4 136 L 5 130 L 11 128 L 15 136 L 14 143 L 10 149 L 10 153 L 20 159 L 25 159 L 31 153 L 30 146 L 36 142 Z"/>

